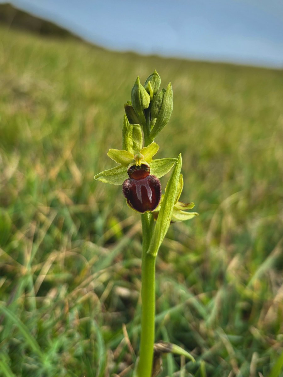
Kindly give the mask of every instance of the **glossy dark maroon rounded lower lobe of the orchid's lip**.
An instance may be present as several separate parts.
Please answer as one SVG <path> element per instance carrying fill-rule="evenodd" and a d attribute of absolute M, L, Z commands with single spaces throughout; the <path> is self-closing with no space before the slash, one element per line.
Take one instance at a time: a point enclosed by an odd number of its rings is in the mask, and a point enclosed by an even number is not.
<path fill-rule="evenodd" d="M 154 175 L 140 179 L 128 178 L 123 183 L 123 195 L 134 210 L 140 213 L 154 211 L 160 203 L 161 184 Z"/>

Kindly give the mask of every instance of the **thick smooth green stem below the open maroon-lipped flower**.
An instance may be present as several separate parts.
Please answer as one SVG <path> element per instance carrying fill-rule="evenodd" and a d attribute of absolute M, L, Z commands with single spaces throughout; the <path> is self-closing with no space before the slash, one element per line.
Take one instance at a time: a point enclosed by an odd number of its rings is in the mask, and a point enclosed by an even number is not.
<path fill-rule="evenodd" d="M 155 321 L 155 257 L 147 254 L 152 235 L 152 214 L 141 215 L 143 255 L 141 265 L 141 341 L 138 377 L 151 377 Z"/>

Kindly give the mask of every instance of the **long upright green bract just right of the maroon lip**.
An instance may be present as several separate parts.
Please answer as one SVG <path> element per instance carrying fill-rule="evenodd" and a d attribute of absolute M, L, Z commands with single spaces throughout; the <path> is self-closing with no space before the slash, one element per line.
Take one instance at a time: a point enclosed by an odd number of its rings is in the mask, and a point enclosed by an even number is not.
<path fill-rule="evenodd" d="M 156 160 L 155 160 L 156 161 Z M 161 204 L 158 218 L 153 230 L 151 242 L 147 253 L 153 257 L 157 256 L 158 249 L 167 233 L 173 212 L 175 198 L 177 196 L 178 182 L 182 167 L 181 154 L 178 156 L 178 162 L 175 164 L 174 170 L 167 184 L 167 189 Z"/>

